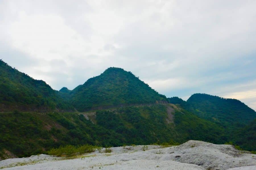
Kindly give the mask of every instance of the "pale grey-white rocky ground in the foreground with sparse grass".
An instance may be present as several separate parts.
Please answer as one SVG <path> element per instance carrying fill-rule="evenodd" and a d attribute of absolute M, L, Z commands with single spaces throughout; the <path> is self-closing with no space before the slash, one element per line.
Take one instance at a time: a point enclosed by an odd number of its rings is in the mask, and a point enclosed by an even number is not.
<path fill-rule="evenodd" d="M 75 158 L 37 155 L 0 162 L 3 169 L 168 169 L 255 170 L 256 155 L 231 145 L 188 141 L 179 146 L 124 146 Z"/>

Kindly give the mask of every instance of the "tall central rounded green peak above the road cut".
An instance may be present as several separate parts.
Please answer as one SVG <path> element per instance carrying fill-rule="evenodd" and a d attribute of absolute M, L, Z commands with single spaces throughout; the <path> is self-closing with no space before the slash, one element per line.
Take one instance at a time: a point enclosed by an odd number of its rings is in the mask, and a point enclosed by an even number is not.
<path fill-rule="evenodd" d="M 153 90 L 131 72 L 115 67 L 88 79 L 74 90 L 62 88 L 59 92 L 59 95 L 70 101 L 78 111 L 167 103 L 164 95 Z"/>

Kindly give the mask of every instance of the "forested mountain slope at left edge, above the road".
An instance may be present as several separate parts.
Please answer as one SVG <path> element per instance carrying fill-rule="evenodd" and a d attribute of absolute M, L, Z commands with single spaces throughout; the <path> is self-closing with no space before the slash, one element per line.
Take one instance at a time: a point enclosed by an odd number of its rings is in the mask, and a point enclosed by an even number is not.
<path fill-rule="evenodd" d="M 1 111 L 72 110 L 43 80 L 35 80 L 0 60 Z"/>

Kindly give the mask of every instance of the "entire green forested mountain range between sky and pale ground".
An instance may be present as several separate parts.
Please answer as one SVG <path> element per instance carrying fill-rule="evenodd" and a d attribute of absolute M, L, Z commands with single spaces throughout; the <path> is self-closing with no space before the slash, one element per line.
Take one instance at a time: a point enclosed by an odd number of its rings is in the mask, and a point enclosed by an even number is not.
<path fill-rule="evenodd" d="M 7 151 L 22 157 L 61 145 L 145 145 L 190 139 L 234 142 L 256 150 L 256 121 L 251 122 L 255 111 L 236 99 L 207 94 L 194 94 L 187 101 L 167 99 L 131 72 L 115 67 L 74 90 L 59 91 L 2 60 L 0 73 L 1 158 L 6 159 Z"/>

